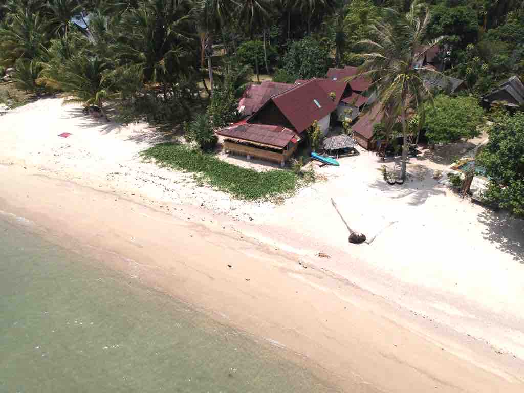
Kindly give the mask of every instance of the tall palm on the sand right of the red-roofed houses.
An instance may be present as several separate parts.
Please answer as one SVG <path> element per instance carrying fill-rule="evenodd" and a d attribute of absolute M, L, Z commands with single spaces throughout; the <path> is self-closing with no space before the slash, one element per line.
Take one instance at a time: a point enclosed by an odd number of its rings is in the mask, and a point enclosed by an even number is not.
<path fill-rule="evenodd" d="M 416 112 L 419 124 L 423 124 L 423 103 L 432 99 L 432 93 L 424 79 L 431 76 L 433 79 L 443 77 L 430 68 L 414 68 L 417 60 L 443 39 L 439 37 L 429 42 L 423 41 L 430 19 L 428 6 L 419 0 L 411 4 L 406 15 L 387 8 L 381 21 L 370 26 L 370 35 L 374 40 L 359 42 L 372 52 L 357 55 L 364 63 L 356 77 L 365 75 L 370 78 L 370 90 L 376 93 L 378 101 L 375 105 L 381 105 L 381 111 L 387 111 L 390 119 L 400 118 L 401 121 L 402 179 L 406 178 L 408 151 L 414 137 L 407 124 L 408 115 Z"/>

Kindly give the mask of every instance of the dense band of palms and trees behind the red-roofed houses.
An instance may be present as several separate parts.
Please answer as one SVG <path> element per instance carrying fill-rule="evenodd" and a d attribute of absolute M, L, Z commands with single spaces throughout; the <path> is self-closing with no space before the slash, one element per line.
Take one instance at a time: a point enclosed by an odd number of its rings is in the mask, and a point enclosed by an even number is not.
<path fill-rule="evenodd" d="M 433 48 L 443 67 L 414 69 Z M 524 2 L 0 0 L 9 97 L 15 85 L 35 97 L 61 93 L 106 118 L 185 131 L 203 150 L 212 150 L 210 130 L 238 118 L 253 75 L 294 83 L 335 65 L 358 66 L 373 81 L 365 95 L 380 104 L 381 135 L 404 140 L 403 176 L 422 131 L 432 143 L 471 138 L 479 97 L 524 77 Z M 423 82 L 444 75 L 465 81 L 459 97 Z"/>

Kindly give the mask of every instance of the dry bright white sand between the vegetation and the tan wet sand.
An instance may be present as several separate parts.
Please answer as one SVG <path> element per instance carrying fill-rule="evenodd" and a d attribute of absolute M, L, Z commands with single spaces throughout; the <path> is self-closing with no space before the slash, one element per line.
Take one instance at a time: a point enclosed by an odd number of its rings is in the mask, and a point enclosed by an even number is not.
<path fill-rule="evenodd" d="M 72 135 L 58 137 L 62 132 Z M 433 180 L 433 171 L 447 170 L 454 154 L 412 159 L 410 181 L 389 186 L 379 171 L 383 162 L 359 149 L 361 155 L 340 159 L 340 167 L 317 169 L 326 181 L 275 205 L 234 200 L 198 187 L 191 174 L 141 162 L 139 151 L 162 137 L 143 124 L 119 127 L 84 116 L 78 106 L 62 106 L 60 99 L 45 99 L 0 117 L 0 163 L 156 208 L 209 209 L 236 231 L 293 252 L 420 321 L 488 342 L 497 356 L 524 359 L 524 222 L 472 204 Z M 331 198 L 371 244 L 347 242 Z M 319 252 L 330 258 L 316 257 Z"/>

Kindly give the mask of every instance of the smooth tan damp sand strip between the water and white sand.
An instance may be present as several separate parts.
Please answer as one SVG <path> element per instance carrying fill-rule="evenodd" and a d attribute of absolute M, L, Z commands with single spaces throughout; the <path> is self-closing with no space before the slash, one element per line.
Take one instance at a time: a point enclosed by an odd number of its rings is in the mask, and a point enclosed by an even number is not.
<path fill-rule="evenodd" d="M 315 375 L 327 374 L 343 391 L 522 389 L 519 359 L 465 342 L 318 263 L 249 237 L 241 222 L 187 205 L 169 204 L 167 214 L 138 196 L 15 165 L 0 166 L 0 178 L 0 210 L 47 228 L 66 246 L 88 245 L 97 260 L 107 263 L 113 253 L 117 270 L 305 356 Z"/>

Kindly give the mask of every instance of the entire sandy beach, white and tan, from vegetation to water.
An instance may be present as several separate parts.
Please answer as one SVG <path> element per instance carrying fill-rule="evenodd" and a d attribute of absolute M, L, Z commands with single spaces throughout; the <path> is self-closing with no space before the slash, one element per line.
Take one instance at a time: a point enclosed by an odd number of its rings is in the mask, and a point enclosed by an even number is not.
<path fill-rule="evenodd" d="M 522 391 L 524 224 L 434 180 L 451 154 L 422 152 L 410 180 L 389 187 L 360 149 L 283 203 L 254 203 L 141 161 L 170 137 L 61 99 L 10 111 L 0 210 L 267 340 L 341 391 Z M 370 244 L 347 243 L 331 198 Z"/>

